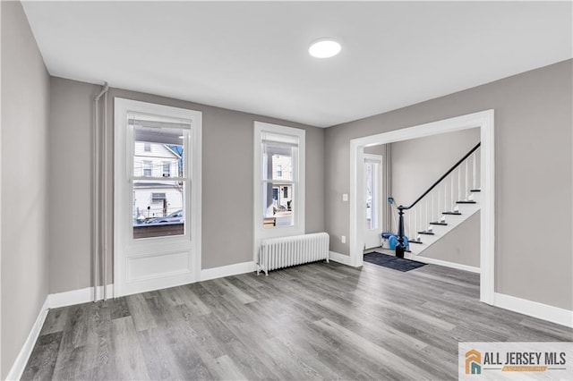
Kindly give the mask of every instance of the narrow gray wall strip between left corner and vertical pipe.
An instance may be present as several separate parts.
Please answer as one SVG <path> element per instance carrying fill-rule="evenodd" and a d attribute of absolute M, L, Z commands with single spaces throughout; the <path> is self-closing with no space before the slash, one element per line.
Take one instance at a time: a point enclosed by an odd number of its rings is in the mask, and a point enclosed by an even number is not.
<path fill-rule="evenodd" d="M 91 284 L 91 129 L 98 92 L 95 85 L 50 78 L 50 293 Z"/>

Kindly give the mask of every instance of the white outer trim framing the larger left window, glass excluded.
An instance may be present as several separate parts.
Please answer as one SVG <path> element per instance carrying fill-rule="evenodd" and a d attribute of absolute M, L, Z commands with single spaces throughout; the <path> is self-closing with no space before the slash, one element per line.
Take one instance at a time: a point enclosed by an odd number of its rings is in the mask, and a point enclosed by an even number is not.
<path fill-rule="evenodd" d="M 144 290 L 141 289 L 141 286 L 128 287 L 124 284 L 126 268 L 124 250 L 133 241 L 133 237 L 129 233 L 125 233 L 125 229 L 118 229 L 118 226 L 127 223 L 126 216 L 129 215 L 126 215 L 126 213 L 130 213 L 132 210 L 131 202 L 128 201 L 124 190 L 125 183 L 130 180 L 128 174 L 131 171 L 130 161 L 126 157 L 127 155 L 133 156 L 133 148 L 131 148 L 131 142 L 128 141 L 129 134 L 126 131 L 122 131 L 122 127 L 126 125 L 126 115 L 129 112 L 191 121 L 191 130 L 185 132 L 184 138 L 187 139 L 187 144 L 190 148 L 190 154 L 187 155 L 185 161 L 185 164 L 191 170 L 191 174 L 187 175 L 189 182 L 191 182 L 188 190 L 190 196 L 185 201 L 187 203 L 185 207 L 186 220 L 190 225 L 188 228 L 189 233 L 185 233 L 184 236 L 174 236 L 174 240 L 178 240 L 177 242 L 190 241 L 188 247 L 192 252 L 192 259 L 188 266 L 191 267 L 191 271 L 165 273 L 158 277 L 146 278 L 144 280 L 149 281 L 149 283 L 143 285 L 143 287 L 147 287 Z M 161 281 L 161 277 L 165 278 L 166 276 L 172 277 L 171 284 L 168 286 L 199 281 L 201 279 L 201 112 L 115 97 L 114 121 L 114 297 L 164 288 L 165 282 Z M 119 157 L 120 155 L 123 155 L 123 157 Z M 122 183 L 124 183 L 123 186 L 118 185 Z M 191 213 L 189 213 L 190 211 Z M 170 250 L 171 246 L 167 247 L 166 250 Z M 152 255 L 148 254 L 147 256 L 151 257 Z"/>

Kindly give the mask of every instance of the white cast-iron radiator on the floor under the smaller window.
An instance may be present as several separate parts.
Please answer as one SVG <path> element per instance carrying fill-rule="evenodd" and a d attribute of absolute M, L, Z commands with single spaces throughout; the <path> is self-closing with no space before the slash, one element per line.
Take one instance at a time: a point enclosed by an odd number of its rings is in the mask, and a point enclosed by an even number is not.
<path fill-rule="evenodd" d="M 326 259 L 329 261 L 329 234 L 312 233 L 261 241 L 257 275 L 277 268 L 302 265 Z"/>

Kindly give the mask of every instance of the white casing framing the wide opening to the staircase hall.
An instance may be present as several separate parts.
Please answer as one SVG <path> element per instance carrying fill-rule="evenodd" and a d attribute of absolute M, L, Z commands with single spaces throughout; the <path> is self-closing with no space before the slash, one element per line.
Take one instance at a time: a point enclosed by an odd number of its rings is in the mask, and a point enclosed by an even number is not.
<path fill-rule="evenodd" d="M 481 130 L 481 224 L 480 224 L 480 301 L 493 304 L 495 284 L 495 149 L 494 112 L 485 110 L 438 122 L 382 132 L 350 140 L 350 265 L 363 266 L 363 220 L 361 186 L 364 147 L 423 138 L 445 132 L 479 127 Z"/>

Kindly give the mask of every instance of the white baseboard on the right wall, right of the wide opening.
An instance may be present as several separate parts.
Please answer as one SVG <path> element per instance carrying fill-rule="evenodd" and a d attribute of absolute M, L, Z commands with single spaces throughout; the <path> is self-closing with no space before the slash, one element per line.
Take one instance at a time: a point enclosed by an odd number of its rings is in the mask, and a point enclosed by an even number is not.
<path fill-rule="evenodd" d="M 569 311 L 569 309 L 560 309 L 537 301 L 527 301 L 499 292 L 493 294 L 493 305 L 500 309 L 509 309 L 530 317 L 551 321 L 560 326 L 573 328 L 573 311 Z"/>

